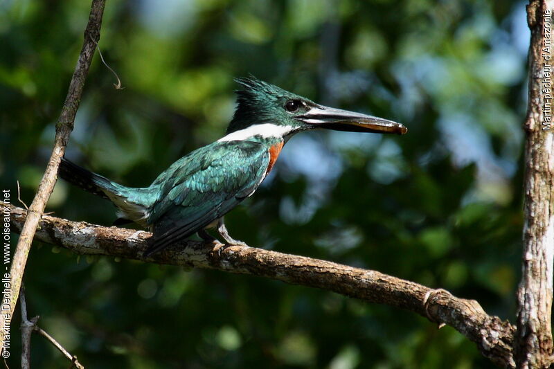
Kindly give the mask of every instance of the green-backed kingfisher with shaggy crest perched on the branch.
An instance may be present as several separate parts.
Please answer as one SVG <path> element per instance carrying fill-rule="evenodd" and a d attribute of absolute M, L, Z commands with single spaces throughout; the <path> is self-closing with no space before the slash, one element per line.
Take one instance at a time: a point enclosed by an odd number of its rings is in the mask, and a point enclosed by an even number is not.
<path fill-rule="evenodd" d="M 238 78 L 237 107 L 225 136 L 175 161 L 146 188 L 131 188 L 62 159 L 60 177 L 109 199 L 118 209 L 114 225 L 135 222 L 152 231 L 144 255 L 157 253 L 197 233 L 216 228 L 233 240 L 223 216 L 250 197 L 274 167 L 289 138 L 311 129 L 405 134 L 400 123 L 324 107 L 279 87 Z"/>

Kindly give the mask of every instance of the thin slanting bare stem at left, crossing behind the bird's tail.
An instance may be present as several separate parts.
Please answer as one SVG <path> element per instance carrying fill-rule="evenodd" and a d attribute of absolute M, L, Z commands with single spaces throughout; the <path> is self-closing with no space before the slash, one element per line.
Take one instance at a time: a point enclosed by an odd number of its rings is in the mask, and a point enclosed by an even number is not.
<path fill-rule="evenodd" d="M 75 120 L 75 114 L 77 114 L 77 109 L 81 100 L 84 80 L 89 73 L 89 66 L 91 65 L 92 57 L 96 49 L 96 42 L 100 39 L 100 25 L 102 24 L 104 6 L 105 0 L 92 1 L 89 22 L 87 28 L 84 30 L 84 43 L 77 61 L 77 66 L 75 66 L 75 71 L 71 77 L 69 90 L 67 91 L 60 118 L 56 124 L 52 154 L 42 180 L 39 183 L 37 194 L 30 204 L 26 222 L 21 230 L 19 241 L 17 242 L 12 265 L 10 267 L 10 284 L 12 290 L 9 304 L 10 311 L 7 312 L 3 310 L 2 314 L 0 314 L 0 339 L 2 344 L 0 347 L 4 347 L 3 343 L 6 338 L 5 336 L 9 334 L 7 328 L 9 328 L 9 322 L 13 316 L 15 303 L 19 296 L 19 288 L 21 287 L 21 280 L 23 279 L 30 245 L 31 242 L 33 242 L 33 237 L 35 236 L 35 231 L 37 230 L 37 225 L 42 217 L 46 203 L 54 189 L 57 179 L 57 168 L 60 165 L 62 156 L 64 156 L 69 134 L 73 130 L 73 121 Z"/>

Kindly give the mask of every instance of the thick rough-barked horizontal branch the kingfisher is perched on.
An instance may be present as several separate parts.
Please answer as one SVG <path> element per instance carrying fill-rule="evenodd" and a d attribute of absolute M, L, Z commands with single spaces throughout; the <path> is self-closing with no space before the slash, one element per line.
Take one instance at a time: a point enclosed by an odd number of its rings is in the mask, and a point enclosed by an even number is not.
<path fill-rule="evenodd" d="M 12 226 L 20 230 L 26 213 L 11 207 Z M 188 241 L 172 249 L 143 258 L 151 233 L 102 227 L 43 216 L 37 239 L 63 246 L 79 254 L 109 255 L 158 264 L 219 269 L 231 273 L 264 276 L 295 285 L 316 287 L 337 294 L 382 303 L 415 312 L 438 324 L 447 324 L 474 341 L 479 350 L 499 366 L 514 368 L 514 327 L 497 316 L 489 316 L 475 300 L 456 298 L 378 271 L 348 267 L 324 260 L 256 249 Z"/>

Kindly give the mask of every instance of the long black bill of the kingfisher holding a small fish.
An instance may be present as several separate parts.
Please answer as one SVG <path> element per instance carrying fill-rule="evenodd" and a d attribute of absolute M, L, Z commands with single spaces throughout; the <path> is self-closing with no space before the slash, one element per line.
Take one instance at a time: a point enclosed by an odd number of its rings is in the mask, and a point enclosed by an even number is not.
<path fill-rule="evenodd" d="M 296 119 L 318 128 L 348 132 L 405 134 L 408 129 L 400 123 L 353 111 L 317 105 Z"/>

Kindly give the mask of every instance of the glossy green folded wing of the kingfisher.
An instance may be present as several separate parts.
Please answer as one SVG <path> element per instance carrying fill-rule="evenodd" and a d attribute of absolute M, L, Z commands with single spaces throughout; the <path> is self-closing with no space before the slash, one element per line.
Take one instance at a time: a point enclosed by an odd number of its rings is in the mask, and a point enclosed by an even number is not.
<path fill-rule="evenodd" d="M 215 142 L 173 163 L 152 183 L 160 196 L 152 207 L 152 244 L 146 254 L 179 242 L 216 221 L 260 186 L 269 165 L 265 145 Z"/>

